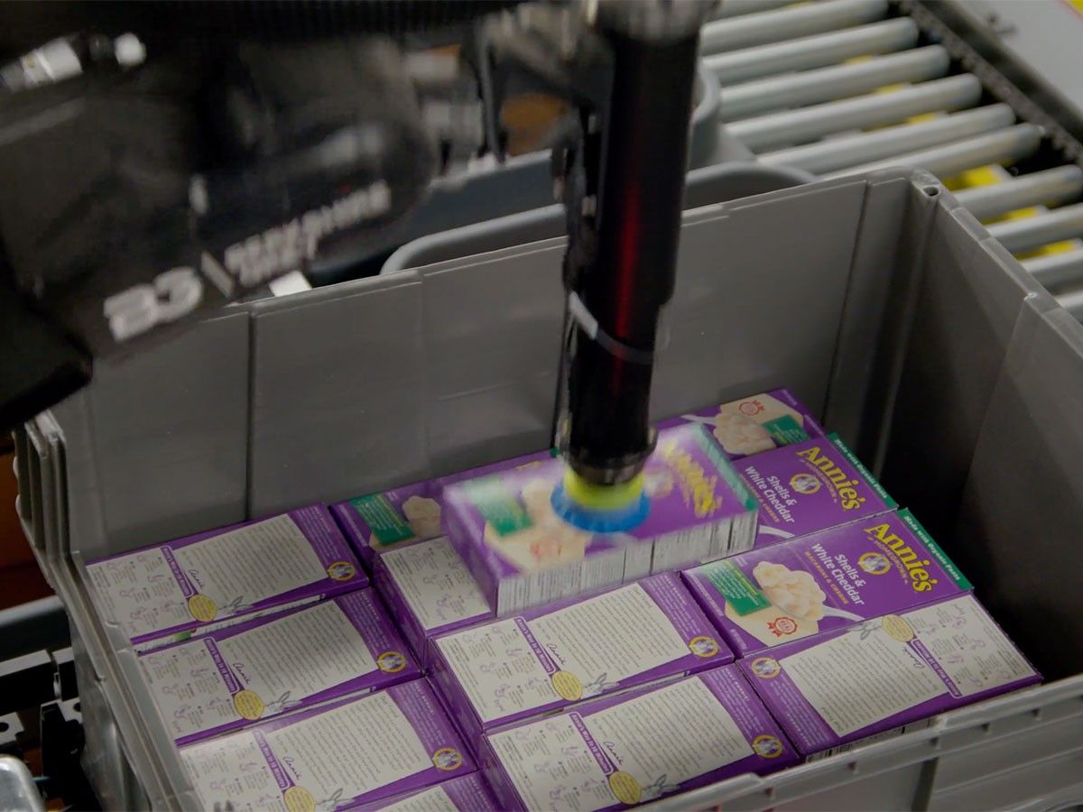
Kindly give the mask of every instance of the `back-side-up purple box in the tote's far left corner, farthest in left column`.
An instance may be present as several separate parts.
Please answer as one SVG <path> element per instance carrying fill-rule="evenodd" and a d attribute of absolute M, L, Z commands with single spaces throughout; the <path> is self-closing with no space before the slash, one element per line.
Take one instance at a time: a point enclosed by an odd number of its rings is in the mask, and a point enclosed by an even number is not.
<path fill-rule="evenodd" d="M 136 651 L 368 584 L 324 505 L 110 555 L 87 572 L 103 617 Z"/>

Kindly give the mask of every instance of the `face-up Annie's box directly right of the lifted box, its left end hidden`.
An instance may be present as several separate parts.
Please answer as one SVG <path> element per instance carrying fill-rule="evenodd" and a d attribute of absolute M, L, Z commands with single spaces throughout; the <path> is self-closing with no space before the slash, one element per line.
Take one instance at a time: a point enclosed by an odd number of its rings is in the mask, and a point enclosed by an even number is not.
<path fill-rule="evenodd" d="M 898 506 L 837 434 L 735 462 L 759 501 L 756 545 L 795 538 Z"/>

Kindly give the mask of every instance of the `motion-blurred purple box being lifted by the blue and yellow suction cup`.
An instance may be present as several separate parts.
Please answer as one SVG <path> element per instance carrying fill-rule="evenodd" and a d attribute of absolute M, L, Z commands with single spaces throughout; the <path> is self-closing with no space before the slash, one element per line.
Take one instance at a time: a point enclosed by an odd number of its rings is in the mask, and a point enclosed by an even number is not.
<path fill-rule="evenodd" d="M 650 512 L 625 533 L 589 533 L 550 501 L 552 459 L 447 487 L 448 538 L 497 616 L 752 547 L 756 502 L 702 425 L 660 433 L 643 470 Z"/>

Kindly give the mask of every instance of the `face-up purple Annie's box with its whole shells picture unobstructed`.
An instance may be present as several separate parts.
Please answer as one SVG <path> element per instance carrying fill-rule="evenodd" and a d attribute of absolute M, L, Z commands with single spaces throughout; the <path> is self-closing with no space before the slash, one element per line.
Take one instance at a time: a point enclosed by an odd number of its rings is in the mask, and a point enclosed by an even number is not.
<path fill-rule="evenodd" d="M 739 657 L 971 588 L 909 510 L 758 547 L 683 577 Z"/>

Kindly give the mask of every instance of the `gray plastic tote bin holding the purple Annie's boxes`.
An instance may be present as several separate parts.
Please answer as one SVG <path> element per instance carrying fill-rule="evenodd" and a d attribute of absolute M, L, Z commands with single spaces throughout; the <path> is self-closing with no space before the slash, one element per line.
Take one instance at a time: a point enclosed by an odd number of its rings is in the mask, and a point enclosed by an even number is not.
<path fill-rule="evenodd" d="M 27 528 L 70 614 L 84 762 L 108 807 L 199 802 L 84 562 L 543 447 L 562 250 L 550 239 L 238 307 L 97 370 L 28 427 L 48 454 L 21 467 L 23 496 L 37 493 Z M 793 388 L 1047 682 L 658 806 L 1083 803 L 1083 325 L 930 175 L 901 170 L 690 211 L 677 280 L 655 416 Z"/>

